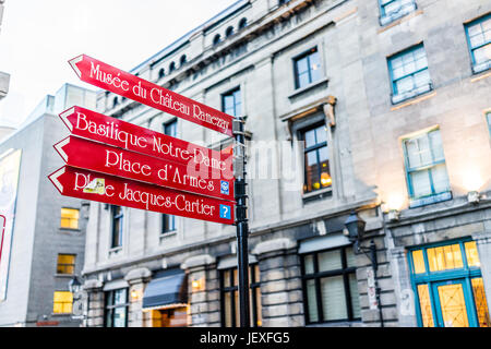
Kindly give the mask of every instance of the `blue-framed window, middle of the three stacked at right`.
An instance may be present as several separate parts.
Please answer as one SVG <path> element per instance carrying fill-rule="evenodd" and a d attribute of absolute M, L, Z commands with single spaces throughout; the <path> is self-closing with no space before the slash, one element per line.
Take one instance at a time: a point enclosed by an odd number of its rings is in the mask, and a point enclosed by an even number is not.
<path fill-rule="evenodd" d="M 423 45 L 418 45 L 388 59 L 392 79 L 392 103 L 416 97 L 432 89 Z"/>

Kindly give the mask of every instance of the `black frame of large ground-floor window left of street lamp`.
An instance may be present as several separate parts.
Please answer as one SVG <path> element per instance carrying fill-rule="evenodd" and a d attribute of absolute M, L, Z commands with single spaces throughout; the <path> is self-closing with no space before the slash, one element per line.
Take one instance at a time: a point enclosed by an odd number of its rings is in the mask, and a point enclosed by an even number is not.
<path fill-rule="evenodd" d="M 306 325 L 319 325 L 319 324 L 334 324 L 334 323 L 342 323 L 342 322 L 358 322 L 361 321 L 361 317 L 355 317 L 354 315 L 354 305 L 351 302 L 351 289 L 349 285 L 349 275 L 355 275 L 355 278 L 357 279 L 357 269 L 356 266 L 348 267 L 348 258 L 347 258 L 347 250 L 349 248 L 352 248 L 351 245 L 345 245 L 345 246 L 337 246 L 333 249 L 326 249 L 326 250 L 320 250 L 320 251 L 313 251 L 308 253 L 300 254 L 300 267 L 301 267 L 301 281 L 302 281 L 302 294 L 303 294 L 303 315 L 306 320 Z M 340 262 L 342 262 L 342 268 L 340 269 L 334 269 L 334 270 L 326 270 L 326 272 L 319 272 L 319 255 L 324 252 L 331 252 L 331 251 L 340 251 Z M 354 252 L 355 254 L 355 252 Z M 312 274 L 307 274 L 306 270 L 306 257 L 312 255 L 313 256 L 313 267 L 314 272 Z M 343 282 L 345 288 L 345 301 L 346 301 L 346 310 L 348 314 L 348 318 L 339 318 L 339 320 L 324 320 L 324 310 L 322 305 L 322 291 L 321 291 L 321 279 L 326 277 L 334 277 L 334 276 L 343 276 Z M 314 287 L 315 287 L 315 300 L 316 300 L 316 309 L 318 309 L 318 322 L 311 322 L 310 321 L 310 313 L 309 313 L 309 301 L 307 297 L 307 281 L 308 280 L 314 280 Z M 356 290 L 358 293 L 358 297 L 360 297 L 360 293 L 358 292 L 358 289 Z M 361 315 L 361 304 L 360 304 L 360 315 Z"/>

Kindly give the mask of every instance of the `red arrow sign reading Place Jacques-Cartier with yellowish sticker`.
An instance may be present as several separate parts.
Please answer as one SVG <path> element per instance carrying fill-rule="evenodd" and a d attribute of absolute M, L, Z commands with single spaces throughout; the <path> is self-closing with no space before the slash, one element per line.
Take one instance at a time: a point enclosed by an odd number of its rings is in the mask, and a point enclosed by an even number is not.
<path fill-rule="evenodd" d="M 232 225 L 233 203 L 69 166 L 48 176 L 64 196 Z"/>

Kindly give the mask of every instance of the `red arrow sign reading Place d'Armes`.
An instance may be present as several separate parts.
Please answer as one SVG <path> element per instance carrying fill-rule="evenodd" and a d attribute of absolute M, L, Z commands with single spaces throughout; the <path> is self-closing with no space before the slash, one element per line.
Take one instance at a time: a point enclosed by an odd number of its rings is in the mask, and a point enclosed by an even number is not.
<path fill-rule="evenodd" d="M 184 166 L 73 135 L 55 149 L 71 167 L 233 201 L 233 181 L 214 179 L 209 168 L 193 161 Z"/>

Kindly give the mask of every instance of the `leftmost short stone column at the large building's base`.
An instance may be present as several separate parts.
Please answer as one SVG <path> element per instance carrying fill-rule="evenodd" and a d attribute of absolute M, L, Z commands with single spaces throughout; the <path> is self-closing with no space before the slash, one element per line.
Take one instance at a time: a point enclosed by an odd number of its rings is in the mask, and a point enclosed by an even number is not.
<path fill-rule="evenodd" d="M 87 294 L 83 327 L 104 327 L 103 282 L 97 279 L 86 280 L 83 285 L 83 290 Z"/>

